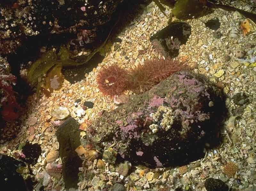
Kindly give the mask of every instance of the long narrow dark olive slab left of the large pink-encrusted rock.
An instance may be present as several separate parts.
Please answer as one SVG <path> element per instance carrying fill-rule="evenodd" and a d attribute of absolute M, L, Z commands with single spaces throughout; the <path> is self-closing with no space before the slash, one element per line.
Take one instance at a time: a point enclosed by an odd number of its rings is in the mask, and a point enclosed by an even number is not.
<path fill-rule="evenodd" d="M 79 123 L 74 118 L 68 118 L 60 125 L 57 132 L 60 143 L 60 157 L 63 164 L 63 179 L 66 188 L 77 188 L 78 168 L 82 166 L 81 159 L 75 149 L 81 145 Z"/>

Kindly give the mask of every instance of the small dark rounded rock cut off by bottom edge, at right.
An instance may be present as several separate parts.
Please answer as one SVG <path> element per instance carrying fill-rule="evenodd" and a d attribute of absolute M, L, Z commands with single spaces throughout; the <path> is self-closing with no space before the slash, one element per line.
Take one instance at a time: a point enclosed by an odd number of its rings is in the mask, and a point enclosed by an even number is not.
<path fill-rule="evenodd" d="M 207 191 L 228 191 L 228 186 L 219 179 L 208 178 L 204 182 Z"/>

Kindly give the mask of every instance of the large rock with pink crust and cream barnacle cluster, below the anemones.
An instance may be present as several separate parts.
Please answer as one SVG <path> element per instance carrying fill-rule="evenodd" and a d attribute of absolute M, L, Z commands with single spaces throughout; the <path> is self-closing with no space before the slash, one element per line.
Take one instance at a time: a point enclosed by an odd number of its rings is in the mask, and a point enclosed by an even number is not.
<path fill-rule="evenodd" d="M 93 145 L 110 163 L 117 152 L 117 160 L 149 167 L 184 165 L 219 143 L 225 112 L 219 89 L 203 76 L 182 71 L 104 113 L 81 142 Z"/>

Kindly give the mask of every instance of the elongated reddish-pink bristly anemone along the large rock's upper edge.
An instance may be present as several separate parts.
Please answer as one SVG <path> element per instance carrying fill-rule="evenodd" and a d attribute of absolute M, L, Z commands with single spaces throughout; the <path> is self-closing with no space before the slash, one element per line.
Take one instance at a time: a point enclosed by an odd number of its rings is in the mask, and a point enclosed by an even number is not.
<path fill-rule="evenodd" d="M 144 64 L 133 65 L 128 72 L 129 88 L 144 92 L 175 72 L 188 69 L 185 62 L 171 58 L 147 60 Z"/>

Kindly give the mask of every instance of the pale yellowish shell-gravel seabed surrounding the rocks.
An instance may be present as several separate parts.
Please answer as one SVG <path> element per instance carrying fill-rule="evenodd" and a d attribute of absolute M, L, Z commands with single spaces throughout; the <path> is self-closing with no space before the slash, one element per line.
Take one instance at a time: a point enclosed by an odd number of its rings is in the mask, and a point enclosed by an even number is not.
<path fill-rule="evenodd" d="M 239 4 L 239 1 L 234 4 L 240 9 L 244 8 L 242 5 Z M 252 11 L 250 6 L 246 9 Z M 36 95 L 29 97 L 28 112 L 21 117 L 19 123 L 20 133 L 16 138 L 0 145 L 1 153 L 13 156 L 24 140 L 40 144 L 42 154 L 37 164 L 31 169 L 36 175 L 36 179 L 42 181 L 47 154 L 52 150 L 59 149 L 59 143 L 55 136 L 59 123 L 57 124 L 57 119 L 51 116 L 56 107 L 67 108 L 70 115 L 80 124 L 96 119 L 103 110 L 111 111 L 118 107 L 113 99 L 104 97 L 99 92 L 96 84 L 99 70 L 102 66 L 116 63 L 126 69 L 132 63 L 142 63 L 146 59 L 157 57 L 149 38 L 167 26 L 168 22 L 168 18 L 161 13 L 154 2 L 144 8 L 144 11 L 139 11 L 140 14 L 136 19 L 132 20 L 131 24 L 118 34 L 117 38 L 122 39 L 122 42 L 115 42 L 104 60 L 97 68 L 86 74 L 83 80 L 75 84 L 70 84 L 65 80 L 59 91 L 54 91 L 49 98 L 43 96 L 38 104 L 36 104 Z M 214 31 L 205 26 L 208 20 L 214 18 L 218 18 L 220 21 L 218 29 L 222 34 L 220 38 L 214 38 Z M 84 162 L 84 165 L 86 173 L 93 174 L 93 177 L 91 177 L 92 181 L 82 178 L 78 183 L 80 190 L 88 190 L 88 188 L 97 190 L 96 188 L 105 185 L 111 187 L 115 184 L 114 187 L 122 187 L 120 184 L 123 184 L 126 188 L 128 187 L 128 190 L 134 190 L 135 186 L 145 190 L 161 190 L 160 188 L 174 190 L 177 187 L 182 187 L 187 190 L 190 188 L 191 190 L 205 191 L 204 181 L 210 177 L 220 179 L 236 190 L 250 190 L 250 187 L 255 189 L 256 67 L 237 58 L 236 50 L 243 50 L 246 59 L 255 57 L 256 34 L 244 36 L 240 26 L 244 20 L 245 18 L 237 12 L 221 9 L 213 10 L 200 18 L 188 19 L 186 22 L 191 26 L 192 32 L 186 45 L 182 45 L 179 50 L 179 56 L 195 66 L 194 72 L 207 76 L 227 95 L 226 106 L 230 113 L 230 119 L 227 119 L 226 126 L 221 132 L 221 145 L 207 151 L 203 159 L 186 166 L 156 169 L 140 165 L 131 166 L 127 161 L 120 165 L 112 165 L 104 160 L 95 159 L 87 151 L 91 160 Z M 245 92 L 249 95 L 249 101 L 244 105 L 236 105 L 232 99 L 238 92 Z M 85 114 L 78 117 L 76 115 L 77 107 L 74 105 L 76 99 L 81 99 L 80 103 L 92 101 L 94 107 L 85 110 Z M 34 118 L 37 120 L 30 122 Z M 12 124 L 9 125 L 12 126 Z M 35 132 L 29 131 L 30 126 L 34 127 Z M 81 136 L 84 136 L 83 133 Z M 85 149 L 92 149 L 90 145 L 87 146 L 88 148 Z M 61 163 L 61 159 L 57 158 L 54 162 Z M 224 170 L 225 166 L 231 163 L 236 164 L 237 169 L 232 177 L 228 177 Z M 84 168 L 80 170 L 84 172 Z M 61 186 L 62 190 L 64 189 L 62 178 L 60 180 L 52 178 L 48 187 L 51 188 L 51 185 L 53 185 L 52 189 L 56 187 L 61 189 Z"/>

